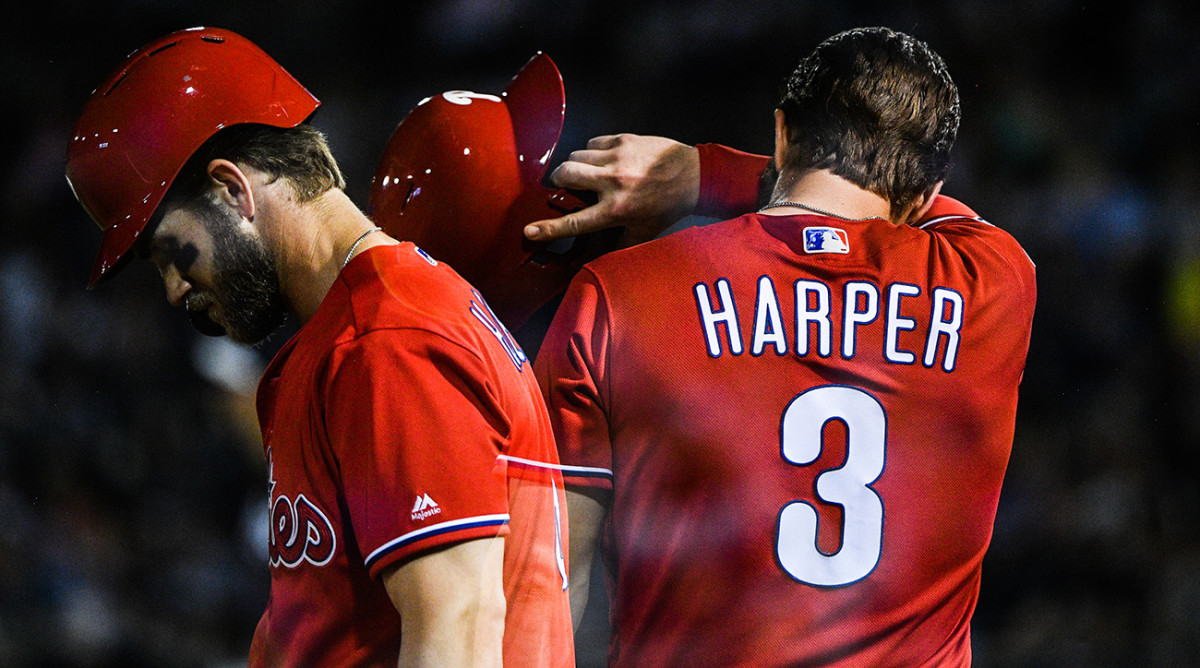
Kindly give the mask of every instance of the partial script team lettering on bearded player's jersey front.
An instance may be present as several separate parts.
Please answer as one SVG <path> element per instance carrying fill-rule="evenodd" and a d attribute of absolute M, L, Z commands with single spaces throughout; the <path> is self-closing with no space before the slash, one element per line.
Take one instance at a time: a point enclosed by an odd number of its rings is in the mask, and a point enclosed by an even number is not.
<path fill-rule="evenodd" d="M 275 495 L 275 459 L 266 451 L 270 471 L 271 499 L 271 566 L 294 568 L 302 561 L 324 566 L 334 558 L 337 538 L 334 525 L 304 494 L 293 501 L 284 494 Z"/>

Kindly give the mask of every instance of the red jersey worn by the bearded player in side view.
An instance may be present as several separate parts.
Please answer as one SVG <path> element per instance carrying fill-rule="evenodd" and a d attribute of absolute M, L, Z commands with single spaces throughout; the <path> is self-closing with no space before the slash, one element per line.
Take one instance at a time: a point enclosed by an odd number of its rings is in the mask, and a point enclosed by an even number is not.
<path fill-rule="evenodd" d="M 258 391 L 271 596 L 251 666 L 394 667 L 380 573 L 503 535 L 506 666 L 574 666 L 565 498 L 529 362 L 478 291 L 412 243 L 342 270 Z"/>

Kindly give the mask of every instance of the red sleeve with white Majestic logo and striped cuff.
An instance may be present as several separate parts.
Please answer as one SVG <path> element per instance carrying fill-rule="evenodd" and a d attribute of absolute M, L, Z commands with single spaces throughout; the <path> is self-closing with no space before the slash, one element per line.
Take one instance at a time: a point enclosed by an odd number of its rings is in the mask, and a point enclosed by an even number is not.
<path fill-rule="evenodd" d="M 401 559 L 505 535 L 508 425 L 484 362 L 432 332 L 378 330 L 338 347 L 325 428 L 372 577 Z"/>

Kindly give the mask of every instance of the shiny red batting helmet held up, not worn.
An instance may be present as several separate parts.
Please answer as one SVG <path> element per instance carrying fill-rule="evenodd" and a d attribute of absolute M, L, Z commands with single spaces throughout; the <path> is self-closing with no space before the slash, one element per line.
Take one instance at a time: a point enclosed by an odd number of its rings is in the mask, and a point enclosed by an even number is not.
<path fill-rule="evenodd" d="M 449 91 L 400 122 L 371 185 L 368 212 L 452 266 L 510 327 L 566 289 L 596 241 L 564 252 L 524 237 L 527 223 L 584 206 L 542 185 L 563 130 L 563 78 L 539 53 L 499 96 Z"/>

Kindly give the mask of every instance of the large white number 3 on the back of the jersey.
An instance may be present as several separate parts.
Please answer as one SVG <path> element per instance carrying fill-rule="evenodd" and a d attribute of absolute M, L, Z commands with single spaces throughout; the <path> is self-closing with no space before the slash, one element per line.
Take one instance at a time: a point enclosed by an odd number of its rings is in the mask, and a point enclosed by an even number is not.
<path fill-rule="evenodd" d="M 844 508 L 841 548 L 817 548 L 817 511 L 792 501 L 779 513 L 775 554 L 793 578 L 818 586 L 839 586 L 865 578 L 880 562 L 883 501 L 871 488 L 883 473 L 887 415 L 866 392 L 826 385 L 808 390 L 784 410 L 780 440 L 784 459 L 806 467 L 821 456 L 822 433 L 830 420 L 846 425 L 846 464 L 816 477 L 817 498 Z"/>

